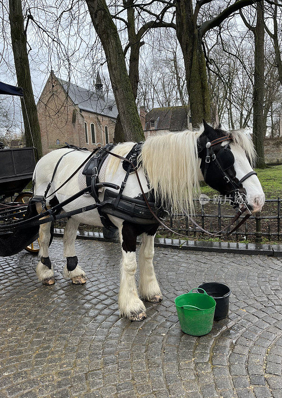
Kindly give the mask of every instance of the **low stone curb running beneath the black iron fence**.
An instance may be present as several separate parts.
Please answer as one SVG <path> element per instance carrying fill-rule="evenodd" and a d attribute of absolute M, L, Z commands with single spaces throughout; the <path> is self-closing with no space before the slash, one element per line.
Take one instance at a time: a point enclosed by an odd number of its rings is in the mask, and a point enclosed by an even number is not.
<path fill-rule="evenodd" d="M 63 228 L 55 228 L 54 236 L 62 237 Z M 99 240 L 102 242 L 117 242 L 117 239 L 105 239 L 102 232 L 78 231 L 77 239 Z M 140 242 L 140 240 L 138 240 Z M 214 253 L 255 254 L 282 257 L 282 245 L 236 242 L 204 242 L 199 240 L 182 240 L 170 238 L 155 238 L 155 247 L 193 250 Z"/>

